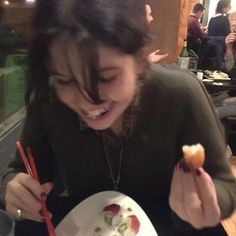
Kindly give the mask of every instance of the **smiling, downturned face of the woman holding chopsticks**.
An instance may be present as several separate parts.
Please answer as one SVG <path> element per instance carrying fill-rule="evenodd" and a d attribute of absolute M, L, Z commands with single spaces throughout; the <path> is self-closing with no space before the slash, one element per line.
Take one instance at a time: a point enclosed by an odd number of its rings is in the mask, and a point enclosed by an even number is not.
<path fill-rule="evenodd" d="M 98 93 L 101 104 L 91 102 L 82 78 L 81 58 L 73 41 L 57 40 L 51 48 L 50 81 L 59 99 L 75 111 L 91 128 L 112 128 L 133 101 L 140 66 L 131 55 L 98 46 Z M 77 86 L 76 86 L 77 83 Z M 78 88 L 79 85 L 79 88 Z"/>

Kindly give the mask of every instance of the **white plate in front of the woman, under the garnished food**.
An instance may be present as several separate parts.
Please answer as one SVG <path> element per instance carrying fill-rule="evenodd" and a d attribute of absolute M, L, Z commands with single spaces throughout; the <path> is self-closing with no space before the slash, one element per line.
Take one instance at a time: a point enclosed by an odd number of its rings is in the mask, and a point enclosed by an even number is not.
<path fill-rule="evenodd" d="M 130 215 L 136 215 L 140 222 L 137 236 L 158 236 L 151 221 L 142 208 L 130 197 L 115 191 L 104 191 L 96 193 L 74 209 L 72 209 L 56 228 L 57 236 L 122 236 L 126 234 L 117 233 L 104 223 L 103 209 L 110 204 L 118 204 L 122 209 L 132 210 Z M 124 211 L 127 216 L 127 211 Z M 102 233 L 96 234 L 95 228 L 101 228 Z M 116 234 L 114 234 L 116 233 Z M 132 236 L 135 234 L 132 234 Z M 129 236 L 129 235 L 126 235 Z"/>

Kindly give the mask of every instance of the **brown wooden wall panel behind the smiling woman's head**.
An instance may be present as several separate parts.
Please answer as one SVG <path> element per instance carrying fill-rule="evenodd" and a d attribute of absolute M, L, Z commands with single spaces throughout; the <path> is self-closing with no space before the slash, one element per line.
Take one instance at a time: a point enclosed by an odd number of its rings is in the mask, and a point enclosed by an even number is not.
<path fill-rule="evenodd" d="M 189 0 L 150 0 L 154 22 L 151 24 L 153 42 L 150 51 L 159 48 L 168 53 L 163 63 L 173 63 L 187 33 Z"/>

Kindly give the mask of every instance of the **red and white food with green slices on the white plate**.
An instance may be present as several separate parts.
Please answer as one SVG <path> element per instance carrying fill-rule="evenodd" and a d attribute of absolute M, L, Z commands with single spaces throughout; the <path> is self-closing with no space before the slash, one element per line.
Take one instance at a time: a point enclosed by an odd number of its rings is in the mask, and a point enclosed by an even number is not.
<path fill-rule="evenodd" d="M 109 204 L 103 208 L 103 222 L 94 228 L 93 236 L 136 236 L 140 221 L 130 207 Z"/>

